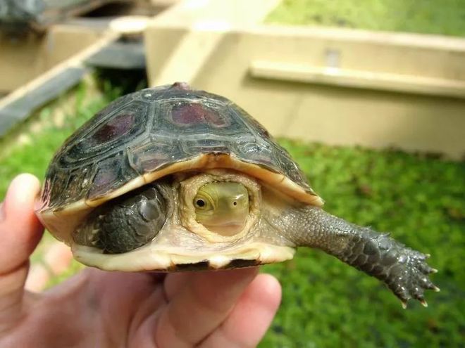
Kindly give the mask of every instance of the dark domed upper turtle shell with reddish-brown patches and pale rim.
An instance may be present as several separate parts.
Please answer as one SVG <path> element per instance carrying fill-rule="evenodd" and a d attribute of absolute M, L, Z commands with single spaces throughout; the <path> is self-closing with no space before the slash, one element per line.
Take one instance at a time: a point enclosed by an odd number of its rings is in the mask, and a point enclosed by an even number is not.
<path fill-rule="evenodd" d="M 162 176 L 204 168 L 246 172 L 297 200 L 323 204 L 287 151 L 247 112 L 175 83 L 118 98 L 77 129 L 51 160 L 39 217 L 49 227 L 49 214 L 87 211 Z"/>

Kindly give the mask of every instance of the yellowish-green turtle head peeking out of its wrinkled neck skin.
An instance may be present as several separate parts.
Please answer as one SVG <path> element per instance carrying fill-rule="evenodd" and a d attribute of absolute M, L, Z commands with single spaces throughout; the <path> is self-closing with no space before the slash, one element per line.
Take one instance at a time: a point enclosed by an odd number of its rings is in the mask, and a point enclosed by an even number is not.
<path fill-rule="evenodd" d="M 222 236 L 242 231 L 249 216 L 249 193 L 242 183 L 206 183 L 197 191 L 193 203 L 196 220 Z"/>

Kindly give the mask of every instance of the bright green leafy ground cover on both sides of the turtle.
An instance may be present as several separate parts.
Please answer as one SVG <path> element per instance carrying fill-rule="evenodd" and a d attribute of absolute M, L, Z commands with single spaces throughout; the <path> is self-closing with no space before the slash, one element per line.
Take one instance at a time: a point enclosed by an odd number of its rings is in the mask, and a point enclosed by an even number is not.
<path fill-rule="evenodd" d="M 20 172 L 44 177 L 63 140 L 123 90 L 106 84 L 104 94 L 73 91 L 75 112 L 61 124 L 54 105 L 37 117 L 42 127 L 23 143 L 0 141 L 0 200 Z M 84 102 L 85 101 L 85 102 Z M 36 117 L 36 118 L 37 118 Z M 27 129 L 23 124 L 16 130 Z M 26 132 L 27 133 L 27 132 Z M 27 136 L 27 135 L 26 135 Z M 395 150 L 342 148 L 280 141 L 299 162 L 325 209 L 430 253 L 441 292 L 429 292 L 428 308 L 400 302 L 369 278 L 318 250 L 299 250 L 290 262 L 264 266 L 283 285 L 283 303 L 260 347 L 463 347 L 465 342 L 465 163 Z M 51 238 L 47 235 L 47 238 Z M 36 252 L 34 262 L 40 262 Z M 56 278 L 58 283 L 81 266 Z"/>

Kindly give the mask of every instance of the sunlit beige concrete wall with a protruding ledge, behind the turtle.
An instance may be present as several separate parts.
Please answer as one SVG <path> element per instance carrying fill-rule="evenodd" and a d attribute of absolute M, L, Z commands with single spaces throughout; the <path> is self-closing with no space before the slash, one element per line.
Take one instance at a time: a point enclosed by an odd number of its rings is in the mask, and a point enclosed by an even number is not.
<path fill-rule="evenodd" d="M 151 22 L 152 85 L 227 96 L 276 136 L 464 156 L 464 39 L 267 26 L 270 7 L 237 20 L 207 7 L 181 3 Z"/>

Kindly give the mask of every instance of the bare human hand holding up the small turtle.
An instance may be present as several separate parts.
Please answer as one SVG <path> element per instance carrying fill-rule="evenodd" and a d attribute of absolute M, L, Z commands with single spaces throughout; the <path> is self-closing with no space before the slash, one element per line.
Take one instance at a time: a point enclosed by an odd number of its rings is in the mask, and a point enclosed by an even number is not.
<path fill-rule="evenodd" d="M 13 180 L 0 207 L 0 347 L 255 347 L 280 302 L 258 269 L 120 273 L 85 269 L 46 292 L 24 289 L 43 228 L 39 181 Z"/>

